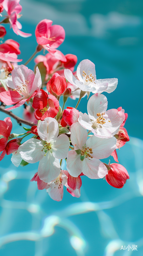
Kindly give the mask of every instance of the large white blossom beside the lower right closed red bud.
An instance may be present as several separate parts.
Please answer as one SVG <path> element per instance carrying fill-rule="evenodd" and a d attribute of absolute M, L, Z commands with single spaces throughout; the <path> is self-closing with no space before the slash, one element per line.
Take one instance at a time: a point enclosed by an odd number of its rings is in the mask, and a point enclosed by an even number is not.
<path fill-rule="evenodd" d="M 103 178 L 107 174 L 107 168 L 99 159 L 111 155 L 115 149 L 116 139 L 92 136 L 87 140 L 87 131 L 78 122 L 71 125 L 70 132 L 74 150 L 68 152 L 68 173 L 73 177 L 83 173 L 90 179 Z"/>

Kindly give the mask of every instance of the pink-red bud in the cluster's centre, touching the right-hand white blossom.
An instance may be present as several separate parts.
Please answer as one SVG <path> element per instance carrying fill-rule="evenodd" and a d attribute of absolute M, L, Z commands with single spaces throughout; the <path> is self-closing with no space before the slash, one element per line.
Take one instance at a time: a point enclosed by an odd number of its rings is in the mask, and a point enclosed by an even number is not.
<path fill-rule="evenodd" d="M 78 122 L 79 111 L 76 110 L 75 108 L 70 108 L 68 106 L 67 109 L 63 111 L 62 117 L 64 121 L 70 126 L 73 123 Z"/>

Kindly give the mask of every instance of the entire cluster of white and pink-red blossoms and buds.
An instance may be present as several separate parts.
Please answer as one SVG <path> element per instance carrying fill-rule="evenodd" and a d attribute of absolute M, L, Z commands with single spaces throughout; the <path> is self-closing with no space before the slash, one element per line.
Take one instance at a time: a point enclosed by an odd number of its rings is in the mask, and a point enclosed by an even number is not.
<path fill-rule="evenodd" d="M 7 11 L 4 23 L 9 22 L 17 35 L 30 36 L 21 32 L 17 21 L 22 9 L 19 0 L 1 1 L 1 12 L 4 9 Z M 116 149 L 129 141 L 124 128 L 128 115 L 122 107 L 107 110 L 108 101 L 102 94 L 113 92 L 117 79 L 97 79 L 95 65 L 88 59 L 82 60 L 74 72 L 77 56 L 57 50 L 64 41 L 65 31 L 52 23 L 43 19 L 36 26 L 35 54 L 42 49 L 49 53 L 36 56 L 35 72 L 27 67 L 31 58 L 25 65 L 17 65 L 21 61 L 17 59 L 18 42 L 9 39 L 0 46 L 0 111 L 9 115 L 9 110 L 24 105 L 24 119 L 14 114 L 13 117 L 31 126 L 31 129 L 23 127 L 26 133 L 14 134 L 10 117 L 0 121 L 0 161 L 12 153 L 15 166 L 39 162 L 31 181 L 36 181 L 38 189 L 46 189 L 56 201 L 62 200 L 64 186 L 72 196 L 80 197 L 82 176 L 86 179 L 105 177 L 111 186 L 121 188 L 129 175 L 118 163 Z M 3 26 L 0 31 L 4 37 Z M 87 113 L 82 113 L 77 108 L 85 96 Z M 68 97 L 78 98 L 75 108 L 64 109 Z M 6 105 L 9 108 L 5 109 Z M 31 138 L 22 143 L 22 139 L 30 135 Z M 110 156 L 117 163 L 102 161 Z M 66 169 L 62 169 L 62 161 Z"/>

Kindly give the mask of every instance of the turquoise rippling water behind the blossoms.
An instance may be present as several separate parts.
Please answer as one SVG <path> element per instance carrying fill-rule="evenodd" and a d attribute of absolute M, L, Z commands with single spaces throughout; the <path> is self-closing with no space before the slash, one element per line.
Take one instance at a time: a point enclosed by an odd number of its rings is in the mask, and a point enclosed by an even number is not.
<path fill-rule="evenodd" d="M 17 36 L 8 24 L 5 38 L 20 43 L 22 63 L 35 51 L 36 25 L 47 18 L 65 29 L 65 41 L 59 50 L 76 54 L 78 63 L 90 59 L 96 65 L 98 79 L 118 78 L 116 90 L 105 95 L 108 109 L 122 106 L 129 115 L 125 127 L 130 141 L 117 154 L 130 179 L 117 189 L 103 179 L 82 177 L 79 199 L 65 189 L 63 200 L 56 202 L 45 190 L 38 191 L 36 182 L 30 182 L 37 172 L 37 163 L 16 168 L 11 156 L 6 156 L 0 162 L 0 255 L 142 256 L 143 3 L 20 0 L 20 4 L 22 31 L 32 36 Z M 33 69 L 34 61 L 28 67 Z M 68 99 L 66 106 L 75 106 L 76 102 Z M 79 111 L 87 112 L 86 102 L 85 97 Z M 14 113 L 21 116 L 22 107 Z M 0 117 L 3 120 L 6 116 L 0 113 Z M 12 132 L 23 132 L 15 120 Z M 113 162 L 112 157 L 110 160 Z M 127 246 L 132 245 L 137 245 L 136 251 L 128 251 Z M 122 246 L 127 249 L 121 250 Z"/>

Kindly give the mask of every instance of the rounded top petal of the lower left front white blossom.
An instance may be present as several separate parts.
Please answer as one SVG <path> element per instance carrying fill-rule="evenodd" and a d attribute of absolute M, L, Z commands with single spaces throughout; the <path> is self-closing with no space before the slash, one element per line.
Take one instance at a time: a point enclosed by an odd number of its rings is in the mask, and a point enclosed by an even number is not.
<path fill-rule="evenodd" d="M 46 117 L 44 121 L 38 124 L 37 131 L 42 140 L 47 142 L 56 140 L 59 134 L 58 122 L 52 117 Z"/>

